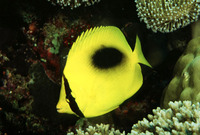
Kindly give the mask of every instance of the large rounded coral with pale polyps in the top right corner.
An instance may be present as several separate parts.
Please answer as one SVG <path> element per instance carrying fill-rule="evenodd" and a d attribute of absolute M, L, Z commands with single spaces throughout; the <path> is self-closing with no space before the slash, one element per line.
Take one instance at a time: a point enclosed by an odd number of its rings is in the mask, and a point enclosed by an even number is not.
<path fill-rule="evenodd" d="M 196 0 L 135 0 L 138 17 L 148 29 L 162 33 L 175 31 L 198 20 L 200 5 Z"/>

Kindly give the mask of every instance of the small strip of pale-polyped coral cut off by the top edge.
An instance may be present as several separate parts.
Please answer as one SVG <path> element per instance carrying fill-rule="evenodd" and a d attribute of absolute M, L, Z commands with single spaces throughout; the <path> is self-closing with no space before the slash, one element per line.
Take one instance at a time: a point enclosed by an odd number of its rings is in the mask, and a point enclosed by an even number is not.
<path fill-rule="evenodd" d="M 52 4 L 59 4 L 62 7 L 70 6 L 71 9 L 77 8 L 81 5 L 91 6 L 94 3 L 100 2 L 100 0 L 48 0 Z"/>

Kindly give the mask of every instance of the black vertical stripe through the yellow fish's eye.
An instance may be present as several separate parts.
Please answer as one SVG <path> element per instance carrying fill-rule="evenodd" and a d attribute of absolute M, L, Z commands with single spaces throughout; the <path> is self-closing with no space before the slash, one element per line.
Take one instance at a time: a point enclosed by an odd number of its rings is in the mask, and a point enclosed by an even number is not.
<path fill-rule="evenodd" d="M 69 83 L 67 81 L 67 78 L 63 75 L 63 78 L 64 78 L 64 85 L 65 85 L 65 92 L 66 92 L 66 99 L 68 99 L 69 102 L 67 102 L 70 106 L 70 108 L 72 109 L 72 111 L 74 113 L 76 113 L 79 117 L 85 117 L 83 115 L 83 113 L 81 112 L 81 110 L 79 109 L 76 101 L 75 101 L 75 98 L 72 96 L 71 94 L 71 89 L 69 87 Z"/>

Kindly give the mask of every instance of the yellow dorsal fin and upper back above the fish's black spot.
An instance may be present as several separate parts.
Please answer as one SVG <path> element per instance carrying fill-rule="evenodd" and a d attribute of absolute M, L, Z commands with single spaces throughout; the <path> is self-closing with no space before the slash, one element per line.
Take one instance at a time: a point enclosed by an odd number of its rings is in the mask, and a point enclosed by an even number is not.
<path fill-rule="evenodd" d="M 93 53 L 92 51 L 103 46 L 116 48 L 126 54 L 132 52 L 119 28 L 114 26 L 100 26 L 83 32 L 72 45 L 69 57 L 74 53 L 77 54 L 77 51 L 88 53 L 89 55 Z"/>

